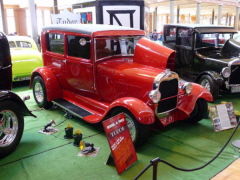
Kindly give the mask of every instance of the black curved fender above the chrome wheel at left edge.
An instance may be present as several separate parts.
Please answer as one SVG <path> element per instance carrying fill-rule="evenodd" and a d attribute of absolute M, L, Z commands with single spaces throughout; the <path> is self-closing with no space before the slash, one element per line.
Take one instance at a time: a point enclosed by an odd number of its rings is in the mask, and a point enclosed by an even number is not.
<path fill-rule="evenodd" d="M 32 114 L 32 112 L 27 108 L 23 100 L 16 93 L 12 91 L 3 91 L 3 90 L 0 91 L 0 103 L 5 100 L 11 100 L 16 102 L 21 108 L 21 111 L 23 112 L 24 116 L 36 117 L 34 114 Z"/>

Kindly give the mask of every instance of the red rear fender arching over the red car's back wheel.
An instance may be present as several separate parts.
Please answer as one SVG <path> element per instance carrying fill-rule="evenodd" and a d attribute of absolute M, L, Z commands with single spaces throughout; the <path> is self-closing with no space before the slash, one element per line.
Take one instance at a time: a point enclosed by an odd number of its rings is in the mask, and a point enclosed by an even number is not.
<path fill-rule="evenodd" d="M 62 98 L 62 88 L 60 87 L 60 84 L 51 69 L 46 67 L 35 69 L 31 76 L 31 84 L 36 75 L 40 75 L 45 83 L 47 100 L 49 102 L 54 99 Z"/>

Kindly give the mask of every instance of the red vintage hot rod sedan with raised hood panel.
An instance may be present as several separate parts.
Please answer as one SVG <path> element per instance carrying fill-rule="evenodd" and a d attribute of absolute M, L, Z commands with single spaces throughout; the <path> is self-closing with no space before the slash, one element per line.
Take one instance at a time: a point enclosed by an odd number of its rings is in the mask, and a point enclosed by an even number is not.
<path fill-rule="evenodd" d="M 58 105 L 89 123 L 123 112 L 135 146 L 149 128 L 207 113 L 208 90 L 179 82 L 175 51 L 144 31 L 111 25 L 52 25 L 41 34 L 44 67 L 31 77 L 39 107 Z"/>

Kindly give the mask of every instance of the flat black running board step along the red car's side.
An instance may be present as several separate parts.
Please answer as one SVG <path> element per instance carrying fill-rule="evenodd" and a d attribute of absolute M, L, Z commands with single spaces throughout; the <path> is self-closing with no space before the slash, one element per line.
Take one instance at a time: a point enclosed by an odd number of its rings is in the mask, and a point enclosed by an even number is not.
<path fill-rule="evenodd" d="M 69 101 L 66 101 L 65 99 L 55 99 L 54 101 L 52 101 L 53 104 L 56 104 L 57 106 L 67 110 L 68 112 L 70 112 L 71 114 L 77 116 L 77 117 L 80 117 L 80 118 L 83 118 L 83 117 L 86 117 L 86 116 L 89 116 L 89 115 L 92 115 L 93 113 L 69 102 Z"/>

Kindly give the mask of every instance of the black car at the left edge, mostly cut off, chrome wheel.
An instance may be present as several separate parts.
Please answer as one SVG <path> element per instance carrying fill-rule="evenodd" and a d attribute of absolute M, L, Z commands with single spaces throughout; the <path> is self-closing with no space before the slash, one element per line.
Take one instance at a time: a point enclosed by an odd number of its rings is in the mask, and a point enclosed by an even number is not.
<path fill-rule="evenodd" d="M 24 116 L 34 116 L 23 100 L 11 91 L 11 87 L 9 44 L 6 36 L 0 32 L 0 159 L 12 153 L 19 144 L 24 129 Z"/>

